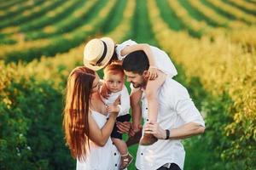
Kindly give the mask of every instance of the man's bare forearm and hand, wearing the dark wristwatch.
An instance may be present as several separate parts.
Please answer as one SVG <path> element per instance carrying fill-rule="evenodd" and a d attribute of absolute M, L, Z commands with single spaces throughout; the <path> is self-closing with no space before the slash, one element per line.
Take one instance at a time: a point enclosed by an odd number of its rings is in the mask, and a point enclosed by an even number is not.
<path fill-rule="evenodd" d="M 195 122 L 189 122 L 181 127 L 172 128 L 169 139 L 186 139 L 196 134 L 205 132 L 205 127 Z M 145 127 L 145 133 L 152 133 L 158 139 L 166 139 L 166 129 L 160 127 L 159 123 L 148 123 Z"/>

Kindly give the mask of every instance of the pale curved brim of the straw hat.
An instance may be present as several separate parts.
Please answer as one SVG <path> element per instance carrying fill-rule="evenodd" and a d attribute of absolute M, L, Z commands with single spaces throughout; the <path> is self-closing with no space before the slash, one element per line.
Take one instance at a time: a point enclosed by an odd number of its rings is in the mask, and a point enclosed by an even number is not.
<path fill-rule="evenodd" d="M 99 71 L 105 66 L 107 66 L 110 59 L 113 56 L 113 51 L 114 51 L 113 39 L 111 39 L 110 37 L 102 37 L 101 40 L 105 42 L 107 45 L 107 54 L 105 55 L 105 58 L 102 60 L 102 65 L 90 65 L 90 62 L 86 62 L 86 60 L 84 62 L 84 65 L 93 71 Z"/>

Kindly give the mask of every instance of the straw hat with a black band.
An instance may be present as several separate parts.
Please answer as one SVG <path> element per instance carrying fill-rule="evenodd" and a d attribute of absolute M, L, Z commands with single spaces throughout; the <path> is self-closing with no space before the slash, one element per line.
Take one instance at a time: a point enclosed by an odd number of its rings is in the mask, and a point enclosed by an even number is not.
<path fill-rule="evenodd" d="M 108 65 L 113 56 L 114 42 L 110 37 L 95 38 L 84 47 L 84 65 L 98 71 Z"/>

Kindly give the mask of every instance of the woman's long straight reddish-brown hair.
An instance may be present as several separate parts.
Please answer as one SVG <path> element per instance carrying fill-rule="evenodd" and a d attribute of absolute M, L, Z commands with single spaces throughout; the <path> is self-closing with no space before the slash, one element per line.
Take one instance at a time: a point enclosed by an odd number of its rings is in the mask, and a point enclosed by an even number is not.
<path fill-rule="evenodd" d="M 63 117 L 65 139 L 74 158 L 84 160 L 90 150 L 88 123 L 90 96 L 95 71 L 76 67 L 67 79 L 66 104 Z"/>

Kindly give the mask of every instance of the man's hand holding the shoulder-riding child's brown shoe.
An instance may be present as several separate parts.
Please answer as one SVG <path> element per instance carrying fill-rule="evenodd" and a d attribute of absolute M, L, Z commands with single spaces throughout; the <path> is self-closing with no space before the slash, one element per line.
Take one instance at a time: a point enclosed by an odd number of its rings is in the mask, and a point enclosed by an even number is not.
<path fill-rule="evenodd" d="M 157 139 L 166 139 L 166 130 L 160 127 L 157 122 L 149 122 L 145 126 L 145 133 L 150 133 L 155 136 Z"/>

